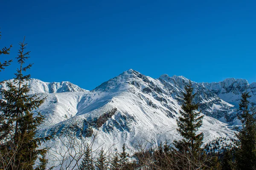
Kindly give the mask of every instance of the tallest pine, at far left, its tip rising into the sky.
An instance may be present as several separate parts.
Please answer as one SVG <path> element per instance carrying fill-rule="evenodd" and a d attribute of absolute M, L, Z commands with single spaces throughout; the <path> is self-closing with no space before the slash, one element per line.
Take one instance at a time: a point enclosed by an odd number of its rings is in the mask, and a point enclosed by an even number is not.
<path fill-rule="evenodd" d="M 5 132 L 1 132 L 3 140 L 1 140 L 0 152 L 5 160 L 1 165 L 5 169 L 12 170 L 32 170 L 38 156 L 43 156 L 47 152 L 47 148 L 38 149 L 38 147 L 41 142 L 49 139 L 36 136 L 37 127 L 43 123 L 44 116 L 40 112 L 35 112 L 35 109 L 43 104 L 45 99 L 38 95 L 27 95 L 30 87 L 26 81 L 30 80 L 30 75 L 23 75 L 23 72 L 30 69 L 32 64 L 23 66 L 30 53 L 24 52 L 26 45 L 24 41 L 20 43 L 17 56 L 20 68 L 17 69 L 14 80 L 6 82 L 7 89 L 0 90 L 2 96 L 0 112 L 3 113 L 1 117 L 5 120 L 5 124 L 9 124 L 6 129 L 9 135 L 3 138 Z M 40 161 L 46 161 L 45 157 Z"/>

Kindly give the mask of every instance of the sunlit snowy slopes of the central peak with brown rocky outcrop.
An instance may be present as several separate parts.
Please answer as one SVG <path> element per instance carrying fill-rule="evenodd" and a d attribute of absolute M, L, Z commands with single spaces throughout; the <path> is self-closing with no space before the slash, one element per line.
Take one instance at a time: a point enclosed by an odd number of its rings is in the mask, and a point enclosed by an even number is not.
<path fill-rule="evenodd" d="M 65 138 L 75 131 L 90 140 L 92 132 L 98 132 L 95 146 L 116 143 L 118 149 L 123 142 L 131 146 L 142 138 L 156 144 L 166 139 L 171 142 L 180 138 L 176 118 L 181 99 L 177 100 L 176 92 L 170 91 L 162 81 L 130 69 L 90 92 L 47 94 L 47 101 L 40 107 L 47 120 L 39 134 Z M 207 96 L 203 99 L 215 103 Z M 224 107 L 231 106 L 221 99 L 216 102 Z M 227 124 L 209 116 L 204 117 L 200 131 L 204 132 L 204 141 L 221 136 L 234 138 Z"/>

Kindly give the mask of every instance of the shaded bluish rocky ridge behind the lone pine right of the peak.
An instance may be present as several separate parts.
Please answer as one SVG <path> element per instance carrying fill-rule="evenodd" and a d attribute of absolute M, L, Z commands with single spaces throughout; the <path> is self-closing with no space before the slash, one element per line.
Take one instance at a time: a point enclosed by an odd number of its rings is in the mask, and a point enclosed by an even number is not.
<path fill-rule="evenodd" d="M 172 77 L 162 75 L 159 80 L 169 89 L 170 95 L 178 101 L 178 104 L 181 104 L 184 86 L 189 83 L 189 80 L 183 76 L 176 75 Z M 221 100 L 218 95 L 210 91 L 204 84 L 192 82 L 192 85 L 196 93 L 194 102 L 199 103 L 202 113 L 216 119 L 224 118 L 227 122 L 233 120 L 230 119 L 233 115 L 231 113 L 233 112 L 233 109 L 231 109 L 233 107 L 232 104 Z"/>

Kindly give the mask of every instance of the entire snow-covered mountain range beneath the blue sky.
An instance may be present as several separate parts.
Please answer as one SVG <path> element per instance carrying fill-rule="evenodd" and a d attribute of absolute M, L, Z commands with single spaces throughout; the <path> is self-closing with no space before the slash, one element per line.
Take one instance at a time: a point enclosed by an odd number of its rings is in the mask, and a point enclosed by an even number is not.
<path fill-rule="evenodd" d="M 96 147 L 116 144 L 121 149 L 124 142 L 131 146 L 141 139 L 159 144 L 166 139 L 172 142 L 180 138 L 176 118 L 188 81 L 183 76 L 168 75 L 154 79 L 129 69 L 91 91 L 70 82 L 44 83 L 32 79 L 28 83 L 31 93 L 47 96 L 38 109 L 46 116 L 38 135 L 56 137 L 47 146 L 56 146 L 57 137 L 68 138 L 72 132 L 90 141 L 97 132 Z M 195 102 L 200 103 L 205 115 L 199 130 L 204 133 L 204 141 L 234 138 L 234 131 L 225 122 L 232 123 L 236 118 L 236 105 L 246 89 L 252 95 L 253 104 L 256 103 L 256 83 L 226 79 L 219 83 L 192 84 L 197 93 Z"/>

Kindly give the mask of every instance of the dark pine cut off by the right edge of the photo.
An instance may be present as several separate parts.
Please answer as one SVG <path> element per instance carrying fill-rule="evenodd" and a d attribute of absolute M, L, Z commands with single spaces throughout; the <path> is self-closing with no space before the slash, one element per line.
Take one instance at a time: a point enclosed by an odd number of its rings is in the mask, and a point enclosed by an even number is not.
<path fill-rule="evenodd" d="M 248 92 L 241 95 L 242 99 L 239 104 L 238 119 L 242 123 L 242 129 L 237 133 L 239 139 L 238 150 L 236 152 L 236 168 L 243 170 L 256 169 L 256 107 L 249 109 L 249 98 L 251 97 Z"/>

